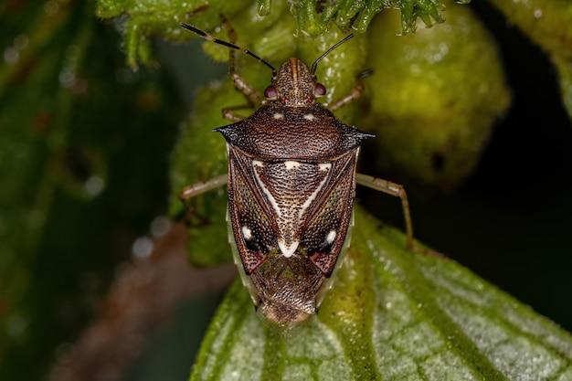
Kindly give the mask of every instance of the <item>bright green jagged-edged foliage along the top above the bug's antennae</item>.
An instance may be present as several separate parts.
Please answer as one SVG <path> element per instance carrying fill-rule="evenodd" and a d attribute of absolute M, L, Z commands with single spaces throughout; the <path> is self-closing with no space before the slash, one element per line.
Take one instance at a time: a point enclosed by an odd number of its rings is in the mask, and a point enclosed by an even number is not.
<path fill-rule="evenodd" d="M 428 27 L 444 21 L 440 0 L 344 0 L 326 5 L 318 0 L 212 0 L 208 4 L 204 0 L 98 0 L 97 5 L 97 15 L 101 18 L 123 16 L 127 62 L 132 68 L 136 68 L 139 62 L 145 65 L 154 63 L 149 37 L 188 40 L 191 35 L 179 27 L 180 22 L 212 30 L 220 24 L 219 15 L 233 19 L 233 26 L 240 32 L 240 40 L 257 47 L 268 45 L 272 37 L 276 48 L 284 47 L 281 36 L 291 40 L 291 27 L 310 37 L 329 33 L 333 25 L 346 32 L 352 29 L 365 33 L 373 17 L 387 8 L 401 11 L 404 34 L 415 32 L 418 19 Z M 288 12 L 294 16 L 293 19 L 284 17 Z M 296 20 L 295 26 L 291 20 Z M 207 49 L 220 51 L 220 48 Z M 256 51 L 263 57 L 277 58 L 264 50 Z"/>

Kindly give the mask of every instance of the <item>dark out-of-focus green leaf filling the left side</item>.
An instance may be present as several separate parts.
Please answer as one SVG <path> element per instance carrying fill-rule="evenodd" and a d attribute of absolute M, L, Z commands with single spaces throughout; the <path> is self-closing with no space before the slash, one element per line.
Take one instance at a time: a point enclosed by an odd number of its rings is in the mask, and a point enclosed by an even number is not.
<path fill-rule="evenodd" d="M 42 379 L 164 208 L 176 102 L 157 73 L 125 68 L 93 9 L 63 0 L 0 9 L 3 380 Z"/>

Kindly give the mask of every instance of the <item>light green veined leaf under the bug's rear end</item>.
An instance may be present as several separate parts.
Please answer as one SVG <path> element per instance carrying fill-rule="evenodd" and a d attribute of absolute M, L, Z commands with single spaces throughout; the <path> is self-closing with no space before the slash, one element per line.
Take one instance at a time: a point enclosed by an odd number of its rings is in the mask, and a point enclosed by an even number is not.
<path fill-rule="evenodd" d="M 404 249 L 361 208 L 317 317 L 280 331 L 238 282 L 192 369 L 199 380 L 571 380 L 572 336 L 471 271 Z"/>

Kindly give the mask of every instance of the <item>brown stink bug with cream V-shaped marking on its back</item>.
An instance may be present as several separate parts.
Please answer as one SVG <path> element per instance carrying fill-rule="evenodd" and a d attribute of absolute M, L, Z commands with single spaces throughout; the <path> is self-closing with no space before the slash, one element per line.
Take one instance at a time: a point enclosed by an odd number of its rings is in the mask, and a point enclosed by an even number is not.
<path fill-rule="evenodd" d="M 276 71 L 236 46 L 233 30 L 223 22 L 231 42 L 182 26 L 230 48 L 230 77 L 260 108 L 245 119 L 223 110 L 234 122 L 215 130 L 227 141 L 228 175 L 187 186 L 180 196 L 185 201 L 228 182 L 228 237 L 254 304 L 272 322 L 302 322 L 317 311 L 349 245 L 355 184 L 401 198 L 411 246 L 408 198 L 401 185 L 355 173 L 360 143 L 373 135 L 339 122 L 332 111 L 355 100 L 361 83 L 330 105 L 316 101 L 326 92 L 316 81 L 318 63 L 353 35 L 310 69 L 290 58 Z M 235 72 L 235 50 L 272 69 L 264 98 Z"/>

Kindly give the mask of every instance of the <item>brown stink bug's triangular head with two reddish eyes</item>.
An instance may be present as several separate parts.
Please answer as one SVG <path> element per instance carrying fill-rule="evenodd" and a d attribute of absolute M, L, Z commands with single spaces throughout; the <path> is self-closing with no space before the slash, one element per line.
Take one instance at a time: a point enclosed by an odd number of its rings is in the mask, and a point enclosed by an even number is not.
<path fill-rule="evenodd" d="M 317 83 L 306 64 L 298 58 L 290 58 L 278 70 L 264 96 L 268 101 L 279 101 L 285 106 L 300 107 L 312 104 L 325 95 L 325 87 Z"/>

